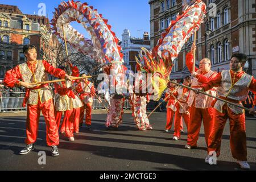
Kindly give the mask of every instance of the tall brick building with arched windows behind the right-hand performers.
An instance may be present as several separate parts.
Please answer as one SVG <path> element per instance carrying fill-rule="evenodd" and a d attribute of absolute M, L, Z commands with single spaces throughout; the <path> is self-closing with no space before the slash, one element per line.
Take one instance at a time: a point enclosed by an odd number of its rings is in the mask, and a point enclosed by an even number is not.
<path fill-rule="evenodd" d="M 249 74 L 256 76 L 256 1 L 255 0 L 204 0 L 207 9 L 216 5 L 213 15 L 205 18 L 197 32 L 197 64 L 204 57 L 212 60 L 212 69 L 221 71 L 229 69 L 229 59 L 233 53 L 245 53 L 248 57 Z M 155 46 L 162 32 L 168 27 L 170 20 L 182 13 L 181 0 L 150 0 L 151 46 Z M 209 6 L 213 3 L 213 6 Z M 214 14 L 216 13 L 216 14 Z M 210 34 L 206 35 L 207 22 Z M 205 39 L 206 38 L 206 39 Z M 207 40 L 205 42 L 205 40 Z M 189 75 L 185 67 L 185 55 L 190 51 L 193 37 L 183 46 L 171 78 L 181 79 Z M 205 51 L 205 43 L 206 51 Z M 206 55 L 206 56 L 205 56 Z"/>

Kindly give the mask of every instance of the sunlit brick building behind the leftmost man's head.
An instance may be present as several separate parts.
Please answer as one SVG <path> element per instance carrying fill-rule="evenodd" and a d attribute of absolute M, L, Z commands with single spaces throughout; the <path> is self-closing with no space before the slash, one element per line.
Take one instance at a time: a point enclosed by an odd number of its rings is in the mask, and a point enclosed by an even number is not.
<path fill-rule="evenodd" d="M 25 61 L 23 46 L 33 44 L 38 59 L 56 64 L 51 50 L 59 42 L 49 31 L 49 20 L 44 16 L 25 15 L 17 6 L 0 5 L 0 79 L 6 71 Z"/>

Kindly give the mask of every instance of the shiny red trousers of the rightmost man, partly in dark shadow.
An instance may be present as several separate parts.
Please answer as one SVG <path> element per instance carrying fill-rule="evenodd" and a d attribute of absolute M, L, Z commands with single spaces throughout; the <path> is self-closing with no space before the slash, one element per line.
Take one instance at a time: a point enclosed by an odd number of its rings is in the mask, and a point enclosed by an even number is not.
<path fill-rule="evenodd" d="M 234 114 L 226 105 L 223 110 L 224 113 L 220 113 L 214 109 L 214 123 L 208 141 L 208 154 L 210 151 L 216 151 L 217 156 L 220 155 L 222 133 L 226 120 L 229 119 L 232 156 L 237 160 L 247 161 L 245 114 Z"/>

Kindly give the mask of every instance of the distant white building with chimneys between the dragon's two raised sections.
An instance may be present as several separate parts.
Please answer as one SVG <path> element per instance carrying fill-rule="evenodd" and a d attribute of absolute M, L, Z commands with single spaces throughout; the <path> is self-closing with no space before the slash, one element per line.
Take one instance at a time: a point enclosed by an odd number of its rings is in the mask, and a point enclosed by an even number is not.
<path fill-rule="evenodd" d="M 131 38 L 129 30 L 123 30 L 121 47 L 126 67 L 134 73 L 137 72 L 135 56 L 138 57 L 141 47 L 150 51 L 150 38 L 148 32 L 144 32 L 143 39 L 140 39 Z"/>

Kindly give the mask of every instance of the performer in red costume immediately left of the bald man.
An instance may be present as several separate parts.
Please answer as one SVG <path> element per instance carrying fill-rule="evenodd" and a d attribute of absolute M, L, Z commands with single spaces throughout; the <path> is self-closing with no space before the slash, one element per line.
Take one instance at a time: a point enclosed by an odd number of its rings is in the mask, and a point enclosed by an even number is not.
<path fill-rule="evenodd" d="M 185 77 L 184 78 L 184 82 L 183 84 L 185 86 L 190 86 L 191 85 L 191 78 Z M 180 102 L 181 106 L 179 105 L 179 103 L 176 103 L 176 112 L 175 112 L 175 118 L 174 118 L 174 123 L 175 123 L 175 127 L 174 127 L 174 140 L 178 140 L 180 139 L 180 121 L 182 121 L 182 118 L 184 118 L 184 122 L 185 125 L 187 126 L 188 129 L 188 123 L 189 123 L 189 117 L 190 117 L 190 113 L 189 113 L 189 106 L 188 106 L 188 96 L 189 96 L 189 90 L 187 88 L 178 88 L 177 92 L 174 93 L 174 96 L 177 98 L 177 100 Z"/>

